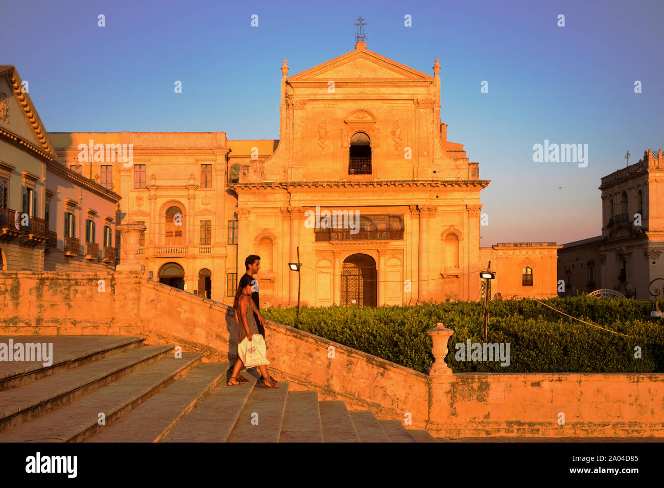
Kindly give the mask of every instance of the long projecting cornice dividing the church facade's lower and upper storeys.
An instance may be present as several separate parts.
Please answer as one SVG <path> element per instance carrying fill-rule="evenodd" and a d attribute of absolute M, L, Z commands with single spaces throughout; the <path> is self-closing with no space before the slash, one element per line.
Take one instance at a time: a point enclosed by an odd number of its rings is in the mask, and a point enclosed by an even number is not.
<path fill-rule="evenodd" d="M 293 187 L 305 188 L 366 188 L 366 187 L 481 187 L 486 188 L 491 180 L 379 180 L 379 181 L 284 181 L 284 182 L 247 182 L 229 183 L 228 188 L 282 189 Z"/>

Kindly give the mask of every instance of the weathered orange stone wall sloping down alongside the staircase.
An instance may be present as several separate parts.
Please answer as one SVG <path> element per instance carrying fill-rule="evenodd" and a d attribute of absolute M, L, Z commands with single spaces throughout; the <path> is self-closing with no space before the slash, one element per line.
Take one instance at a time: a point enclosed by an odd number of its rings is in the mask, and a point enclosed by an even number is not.
<path fill-rule="evenodd" d="M 234 361 L 232 308 L 147 273 L 0 272 L 0 297 L 3 334 L 145 335 L 208 361 Z M 434 436 L 664 437 L 664 374 L 428 376 L 293 327 L 266 329 L 268 367 L 292 389 L 379 418 L 410 414 L 413 428 Z"/>

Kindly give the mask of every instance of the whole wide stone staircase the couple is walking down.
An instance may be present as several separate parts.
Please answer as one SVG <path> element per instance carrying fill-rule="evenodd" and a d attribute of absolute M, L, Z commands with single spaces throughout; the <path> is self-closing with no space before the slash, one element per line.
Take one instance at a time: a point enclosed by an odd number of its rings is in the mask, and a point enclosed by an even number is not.
<path fill-rule="evenodd" d="M 54 360 L 0 362 L 0 442 L 436 442 L 287 382 L 261 388 L 254 370 L 227 386 L 228 363 L 144 337 L 11 339 L 52 343 Z"/>

